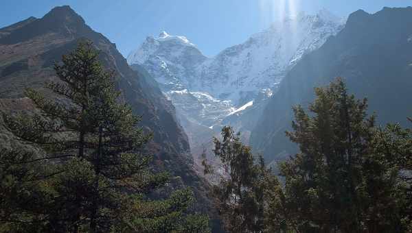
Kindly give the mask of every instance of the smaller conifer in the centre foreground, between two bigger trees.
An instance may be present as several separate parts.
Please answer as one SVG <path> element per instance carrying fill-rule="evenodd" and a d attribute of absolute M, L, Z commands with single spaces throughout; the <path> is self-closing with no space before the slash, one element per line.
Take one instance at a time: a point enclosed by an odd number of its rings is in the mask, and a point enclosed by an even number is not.
<path fill-rule="evenodd" d="M 203 161 L 205 174 L 220 173 L 211 195 L 227 232 L 262 232 L 266 194 L 279 187 L 276 177 L 260 158 L 255 161 L 251 148 L 243 145 L 231 127 L 222 128 L 222 140 L 214 138 L 214 154 L 221 164 L 217 171 Z"/>

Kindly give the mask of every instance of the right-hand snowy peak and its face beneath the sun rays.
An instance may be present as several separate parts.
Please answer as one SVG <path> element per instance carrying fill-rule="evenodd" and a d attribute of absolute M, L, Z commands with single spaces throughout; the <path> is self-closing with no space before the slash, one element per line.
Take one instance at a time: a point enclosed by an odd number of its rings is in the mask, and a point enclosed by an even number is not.
<path fill-rule="evenodd" d="M 305 53 L 319 48 L 341 28 L 339 17 L 326 10 L 317 15 L 288 16 L 199 66 L 200 76 L 192 89 L 241 106 L 262 88 L 276 86 Z"/>

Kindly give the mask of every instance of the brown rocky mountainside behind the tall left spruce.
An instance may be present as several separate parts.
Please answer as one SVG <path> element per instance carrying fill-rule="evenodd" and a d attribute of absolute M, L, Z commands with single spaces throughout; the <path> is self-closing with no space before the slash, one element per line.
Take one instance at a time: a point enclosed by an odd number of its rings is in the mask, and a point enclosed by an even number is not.
<path fill-rule="evenodd" d="M 116 71 L 123 101 L 132 106 L 135 114 L 143 115 L 141 124 L 153 132 L 154 140 L 148 150 L 155 156 L 157 169 L 167 169 L 179 177 L 177 185 L 192 186 L 198 208 L 205 209 L 205 183 L 193 170 L 187 136 L 176 123 L 172 103 L 144 70 L 130 69 L 115 44 L 94 32 L 68 6 L 54 8 L 41 19 L 31 17 L 0 29 L 0 98 L 21 98 L 24 88 L 41 89 L 45 81 L 56 79 L 54 62 L 84 38 L 100 49 L 100 59 L 106 68 Z M 10 104 L 8 108 L 12 110 Z"/>

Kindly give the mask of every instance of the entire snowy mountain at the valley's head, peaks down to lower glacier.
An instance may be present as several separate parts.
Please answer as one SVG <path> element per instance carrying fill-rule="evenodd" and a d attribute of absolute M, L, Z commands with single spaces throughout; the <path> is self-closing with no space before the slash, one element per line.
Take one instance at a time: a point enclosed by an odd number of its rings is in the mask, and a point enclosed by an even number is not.
<path fill-rule="evenodd" d="M 258 114 L 286 73 L 343 25 L 343 19 L 327 10 L 302 12 L 213 58 L 185 36 L 161 32 L 131 52 L 128 64 L 143 66 L 159 82 L 176 107 L 196 158 L 205 147 L 211 151 L 211 137 L 222 125 L 232 125 L 248 141 Z"/>

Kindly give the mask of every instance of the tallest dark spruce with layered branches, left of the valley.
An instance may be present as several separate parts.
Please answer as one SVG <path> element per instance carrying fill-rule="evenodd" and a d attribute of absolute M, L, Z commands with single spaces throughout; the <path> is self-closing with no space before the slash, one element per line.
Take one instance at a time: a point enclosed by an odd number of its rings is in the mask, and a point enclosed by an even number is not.
<path fill-rule="evenodd" d="M 56 64 L 60 81 L 46 85 L 56 97 L 27 89 L 39 112 L 5 116 L 18 140 L 38 148 L 21 164 L 47 163 L 37 179 L 47 181 L 52 193 L 43 230 L 207 232 L 206 217 L 185 214 L 194 201 L 190 190 L 163 201 L 147 199 L 168 175 L 150 172 L 150 156 L 142 153 L 150 136 L 137 126 L 141 118 L 130 106 L 119 103 L 115 73 L 98 58 L 91 42 L 81 42 Z"/>

